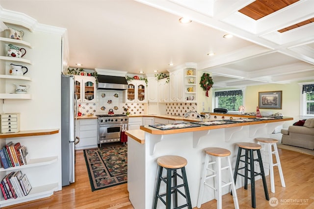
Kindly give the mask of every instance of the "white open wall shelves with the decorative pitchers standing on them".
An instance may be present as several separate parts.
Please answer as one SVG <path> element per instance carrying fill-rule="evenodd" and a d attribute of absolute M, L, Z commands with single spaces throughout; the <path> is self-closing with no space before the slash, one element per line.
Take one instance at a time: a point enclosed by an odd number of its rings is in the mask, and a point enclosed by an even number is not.
<path fill-rule="evenodd" d="M 0 35 L 8 36 L 9 32 L 6 30 Z M 0 60 L 3 61 L 0 66 L 0 83 L 3 83 L 0 99 L 31 99 L 27 92 L 31 78 L 26 74 L 31 61 L 24 57 L 26 51 L 32 48 L 31 44 L 19 39 L 0 37 L 0 46 L 4 49 L 0 52 Z"/>

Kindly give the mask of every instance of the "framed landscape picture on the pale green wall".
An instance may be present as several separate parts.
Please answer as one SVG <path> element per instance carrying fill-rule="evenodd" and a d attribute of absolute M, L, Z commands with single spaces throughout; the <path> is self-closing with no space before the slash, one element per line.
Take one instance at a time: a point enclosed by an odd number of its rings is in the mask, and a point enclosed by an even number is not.
<path fill-rule="evenodd" d="M 283 91 L 259 92 L 259 108 L 261 109 L 282 109 Z"/>

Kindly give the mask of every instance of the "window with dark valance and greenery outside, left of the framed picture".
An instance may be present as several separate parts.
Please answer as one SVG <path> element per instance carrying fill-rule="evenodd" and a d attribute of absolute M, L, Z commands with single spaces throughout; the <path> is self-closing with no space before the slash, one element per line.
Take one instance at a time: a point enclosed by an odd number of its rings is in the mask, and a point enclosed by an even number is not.
<path fill-rule="evenodd" d="M 215 108 L 239 111 L 241 105 L 243 105 L 242 90 L 215 91 Z"/>

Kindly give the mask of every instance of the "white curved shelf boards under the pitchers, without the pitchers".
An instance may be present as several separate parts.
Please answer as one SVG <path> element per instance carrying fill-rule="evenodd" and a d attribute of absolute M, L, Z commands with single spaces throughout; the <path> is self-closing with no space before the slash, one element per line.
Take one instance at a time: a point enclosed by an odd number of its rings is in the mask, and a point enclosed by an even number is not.
<path fill-rule="evenodd" d="M 0 44 L 3 49 L 8 49 L 7 44 L 13 44 L 16 47 L 24 48 L 27 47 L 28 49 L 31 49 L 30 43 L 22 40 L 16 40 L 11 38 L 5 38 L 0 37 Z M 6 52 L 6 50 L 3 50 Z M 25 65 L 27 64 L 27 67 L 29 69 L 29 66 L 31 64 L 31 61 L 24 58 L 16 58 L 16 57 L 10 57 L 10 56 L 2 56 L 0 54 L 0 60 L 3 60 L 7 63 L 17 64 L 17 65 Z M 10 66 L 11 68 L 11 66 Z M 0 69 L 0 82 L 5 83 L 5 88 L 1 88 L 0 90 L 0 99 L 31 99 L 30 94 L 15 94 L 15 87 L 13 85 L 14 82 L 23 82 L 23 85 L 28 85 L 28 81 L 31 80 L 31 78 L 26 76 L 12 76 L 12 75 L 6 75 L 6 72 L 9 72 L 9 69 L 1 68 Z"/>

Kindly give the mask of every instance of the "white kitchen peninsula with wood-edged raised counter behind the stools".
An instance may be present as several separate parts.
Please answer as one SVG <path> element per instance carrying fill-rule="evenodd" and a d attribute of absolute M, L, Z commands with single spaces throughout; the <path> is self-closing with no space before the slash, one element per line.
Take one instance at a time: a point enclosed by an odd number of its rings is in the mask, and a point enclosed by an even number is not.
<path fill-rule="evenodd" d="M 204 148 L 221 147 L 230 150 L 232 153 L 232 166 L 234 167 L 237 151 L 235 144 L 237 142 L 255 142 L 256 137 L 270 137 L 270 134 L 277 126 L 281 126 L 285 121 L 290 120 L 293 120 L 293 118 L 246 120 L 249 122 L 239 122 L 240 120 L 235 119 L 233 121 L 229 120 L 231 123 L 222 125 L 200 125 L 198 127 L 170 130 L 160 130 L 146 125 L 141 126 L 140 130 L 126 131 L 129 136 L 128 190 L 133 207 L 136 209 L 152 208 L 157 178 L 156 160 L 158 157 L 178 155 L 187 159 L 185 168 L 192 207 L 194 208 L 197 204 L 202 163 L 205 157 Z M 227 175 L 223 174 L 223 178 L 227 178 Z M 243 185 L 243 179 L 236 182 L 236 188 Z M 165 191 L 163 184 L 160 190 Z M 228 188 L 225 188 L 223 194 L 227 192 Z M 206 188 L 203 203 L 212 199 L 214 199 L 213 191 Z M 161 206 L 163 204 L 157 205 L 157 207 Z"/>

